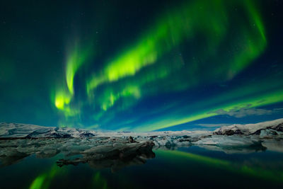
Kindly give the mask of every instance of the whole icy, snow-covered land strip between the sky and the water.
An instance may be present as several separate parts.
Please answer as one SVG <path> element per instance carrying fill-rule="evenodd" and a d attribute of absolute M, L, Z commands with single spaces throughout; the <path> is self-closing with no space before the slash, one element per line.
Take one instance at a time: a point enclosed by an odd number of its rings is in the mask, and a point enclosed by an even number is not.
<path fill-rule="evenodd" d="M 115 156 L 151 156 L 151 149 L 197 146 L 226 154 L 255 151 L 283 152 L 283 119 L 254 125 L 224 126 L 212 131 L 96 132 L 69 127 L 43 127 L 0 123 L 0 160 L 22 159 L 35 154 L 51 157 L 81 154 L 83 159 Z M 143 152 L 142 152 L 143 151 Z M 60 164 L 69 164 L 61 161 Z M 78 161 L 79 162 L 79 161 Z M 73 162 L 74 163 L 74 162 Z"/>

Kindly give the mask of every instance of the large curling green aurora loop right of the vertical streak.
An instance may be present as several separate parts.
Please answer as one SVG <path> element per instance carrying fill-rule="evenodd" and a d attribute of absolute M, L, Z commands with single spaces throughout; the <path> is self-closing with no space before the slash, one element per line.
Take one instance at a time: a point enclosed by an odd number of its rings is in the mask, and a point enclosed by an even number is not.
<path fill-rule="evenodd" d="M 235 55 L 221 52 L 222 43 L 226 44 L 226 36 L 230 33 L 230 15 L 227 10 L 232 6 L 244 7 L 249 23 L 238 24 L 237 39 L 229 44 L 237 50 Z M 255 25 L 252 29 L 252 25 Z M 197 49 L 203 61 L 173 64 L 164 62 L 163 56 L 184 41 L 193 41 L 201 35 L 207 46 Z M 241 40 L 240 45 L 238 39 Z M 229 40 L 229 39 L 228 39 Z M 111 62 L 107 62 L 102 71 L 93 74 L 86 82 L 88 97 L 99 104 L 102 110 L 111 108 L 117 100 L 128 101 L 130 94 L 125 94 L 128 88 L 138 88 L 139 97 L 150 96 L 166 91 L 182 91 L 202 82 L 216 82 L 218 76 L 224 81 L 233 79 L 240 71 L 248 67 L 266 47 L 265 31 L 259 13 L 251 2 L 246 1 L 194 1 L 178 7 L 161 16 L 154 27 L 141 35 L 137 42 L 120 52 Z M 221 58 L 219 58 L 221 57 Z M 212 61 L 213 60 L 213 61 Z M 208 61 L 214 62 L 210 65 Z M 219 63 L 217 63 L 219 62 Z M 200 64 L 200 65 L 198 65 Z M 202 65 L 203 64 L 203 65 Z M 200 76 L 201 71 L 204 71 Z M 176 74 L 180 72 L 180 74 Z M 139 73 L 142 73 L 139 75 Z M 113 85 L 111 85 L 111 83 Z M 146 86 L 164 84 L 163 88 L 147 88 Z M 106 88 L 101 91 L 98 88 Z M 95 95 L 94 95 L 95 94 Z M 137 93 L 132 93 L 137 99 Z M 128 103 L 132 105 L 133 103 Z"/>

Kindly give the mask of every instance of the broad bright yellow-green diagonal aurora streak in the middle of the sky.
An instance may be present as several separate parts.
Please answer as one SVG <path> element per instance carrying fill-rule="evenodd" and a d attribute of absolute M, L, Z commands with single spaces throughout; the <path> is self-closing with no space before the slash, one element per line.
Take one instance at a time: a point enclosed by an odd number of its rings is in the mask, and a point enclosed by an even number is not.
<path fill-rule="evenodd" d="M 172 11 L 170 16 L 165 15 L 159 19 L 156 25 L 141 36 L 135 45 L 128 47 L 112 62 L 109 62 L 103 69 L 102 74 L 95 74 L 90 81 L 87 81 L 88 93 L 100 84 L 117 81 L 126 76 L 134 76 L 143 67 L 154 64 L 158 58 L 180 44 L 184 38 L 192 38 L 193 28 L 195 28 L 195 33 L 207 29 L 202 27 L 203 25 L 198 25 L 199 21 L 203 22 L 204 25 L 212 24 L 212 28 L 214 28 L 212 33 L 222 35 L 225 27 L 214 25 L 214 23 L 219 24 L 219 20 L 221 25 L 225 25 L 225 21 L 220 14 L 216 14 L 214 17 L 210 16 L 209 21 L 207 21 L 207 18 L 195 18 L 193 15 L 195 9 L 200 9 L 198 7 L 203 5 L 205 8 L 212 8 L 203 4 L 203 2 L 201 4 L 192 4 L 186 6 L 186 8 L 179 7 Z M 216 8 L 214 11 L 219 11 L 217 10 L 219 7 L 214 8 Z M 206 13 L 207 10 L 198 11 L 202 11 L 198 13 L 198 15 L 201 15 Z"/>

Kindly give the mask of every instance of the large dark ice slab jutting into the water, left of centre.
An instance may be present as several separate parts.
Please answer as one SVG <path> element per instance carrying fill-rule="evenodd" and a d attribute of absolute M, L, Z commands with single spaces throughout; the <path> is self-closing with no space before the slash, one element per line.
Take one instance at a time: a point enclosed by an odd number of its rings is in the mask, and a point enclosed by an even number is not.
<path fill-rule="evenodd" d="M 152 151 L 154 143 L 137 142 L 129 144 L 113 144 L 108 146 L 98 146 L 82 151 L 83 157 L 78 159 L 59 159 L 58 166 L 89 164 L 94 168 L 111 168 L 112 172 L 124 166 L 133 164 L 145 164 L 146 159 L 155 157 Z"/>

